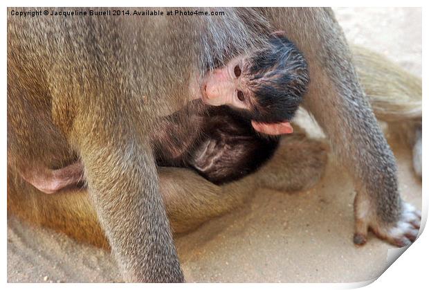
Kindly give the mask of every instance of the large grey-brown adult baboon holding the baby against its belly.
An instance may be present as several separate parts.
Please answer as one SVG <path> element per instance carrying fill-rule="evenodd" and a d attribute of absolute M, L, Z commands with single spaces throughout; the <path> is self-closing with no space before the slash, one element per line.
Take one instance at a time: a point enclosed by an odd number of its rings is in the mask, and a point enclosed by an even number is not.
<path fill-rule="evenodd" d="M 295 133 L 282 138 L 273 158 L 255 174 L 222 186 L 186 168 L 156 166 L 153 141 L 160 118 L 181 109 L 190 113 L 183 107 L 201 97 L 201 88 L 190 86 L 190 76 L 203 80 L 208 70 L 270 46 L 273 31 L 284 31 L 304 55 L 311 82 L 302 106 L 322 127 L 333 154 L 354 181 L 354 242 L 364 244 L 368 230 L 396 246 L 417 237 L 420 213 L 401 199 L 394 156 L 331 10 L 222 8 L 225 17 L 58 19 L 12 17 L 12 9 L 8 8 L 8 208 L 35 215 L 41 224 L 74 225 L 74 233 L 88 237 L 104 233 L 126 281 L 183 282 L 170 222 L 174 229 L 185 228 L 220 215 L 237 206 L 254 182 L 278 185 L 298 179 L 301 187 L 295 188 L 302 188 L 311 177 L 320 176 L 311 170 L 323 167 L 314 154 L 322 150 Z M 246 97 L 246 88 L 239 89 L 243 96 L 238 91 L 228 95 L 234 105 Z M 205 91 L 210 93 L 209 85 Z M 235 96 L 238 100 L 232 99 Z M 189 140 L 193 134 L 200 138 L 202 128 L 188 117 L 208 113 L 208 106 L 195 106 L 193 114 L 177 116 L 180 128 L 173 122 L 170 128 L 181 130 L 178 140 Z M 252 126 L 269 133 L 272 122 L 283 123 L 280 131 L 273 130 L 282 132 L 289 128 L 284 118 L 257 119 Z M 77 158 L 84 166 L 88 197 L 46 196 L 21 179 L 25 176 L 35 184 L 34 174 L 64 170 Z M 277 174 L 267 172 L 269 168 Z M 60 171 L 60 179 L 82 172 L 67 169 L 72 173 Z M 50 179 L 49 174 L 41 176 L 37 179 Z M 57 191 L 64 186 L 47 188 Z"/>

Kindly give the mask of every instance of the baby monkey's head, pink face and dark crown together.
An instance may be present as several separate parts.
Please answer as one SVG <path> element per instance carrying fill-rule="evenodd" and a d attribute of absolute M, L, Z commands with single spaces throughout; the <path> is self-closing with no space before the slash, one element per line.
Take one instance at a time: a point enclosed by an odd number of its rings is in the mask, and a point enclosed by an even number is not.
<path fill-rule="evenodd" d="M 203 101 L 228 105 L 253 123 L 289 124 L 309 84 L 307 62 L 282 32 L 273 33 L 269 44 L 210 71 L 201 88 Z"/>

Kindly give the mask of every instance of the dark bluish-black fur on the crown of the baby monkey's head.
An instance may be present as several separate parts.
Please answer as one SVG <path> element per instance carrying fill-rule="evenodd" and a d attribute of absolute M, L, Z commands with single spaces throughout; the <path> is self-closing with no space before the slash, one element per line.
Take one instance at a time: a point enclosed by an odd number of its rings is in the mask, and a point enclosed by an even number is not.
<path fill-rule="evenodd" d="M 273 34 L 270 44 L 250 57 L 244 68 L 257 102 L 252 111 L 237 110 L 244 118 L 262 123 L 291 120 L 309 84 L 307 62 L 295 44 L 282 33 Z"/>

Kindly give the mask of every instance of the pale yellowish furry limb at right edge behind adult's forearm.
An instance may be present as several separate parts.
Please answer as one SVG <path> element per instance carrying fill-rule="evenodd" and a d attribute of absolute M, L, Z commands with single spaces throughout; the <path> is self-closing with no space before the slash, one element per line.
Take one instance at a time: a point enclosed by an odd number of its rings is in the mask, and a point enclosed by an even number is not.
<path fill-rule="evenodd" d="M 379 53 L 356 45 L 351 48 L 374 114 L 412 147 L 414 172 L 421 178 L 421 78 Z"/>

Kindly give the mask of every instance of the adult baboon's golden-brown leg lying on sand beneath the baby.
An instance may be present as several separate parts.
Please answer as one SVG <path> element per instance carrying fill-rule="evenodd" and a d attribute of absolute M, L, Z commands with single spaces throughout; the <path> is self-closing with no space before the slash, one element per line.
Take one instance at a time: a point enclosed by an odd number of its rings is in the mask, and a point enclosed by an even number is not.
<path fill-rule="evenodd" d="M 284 137 L 266 165 L 244 179 L 219 186 L 192 170 L 160 167 L 160 191 L 174 232 L 183 233 L 237 208 L 257 187 L 286 191 L 309 188 L 324 172 L 325 161 L 322 143 L 294 133 Z M 9 168 L 8 213 L 80 241 L 108 247 L 84 189 L 45 194 Z"/>

